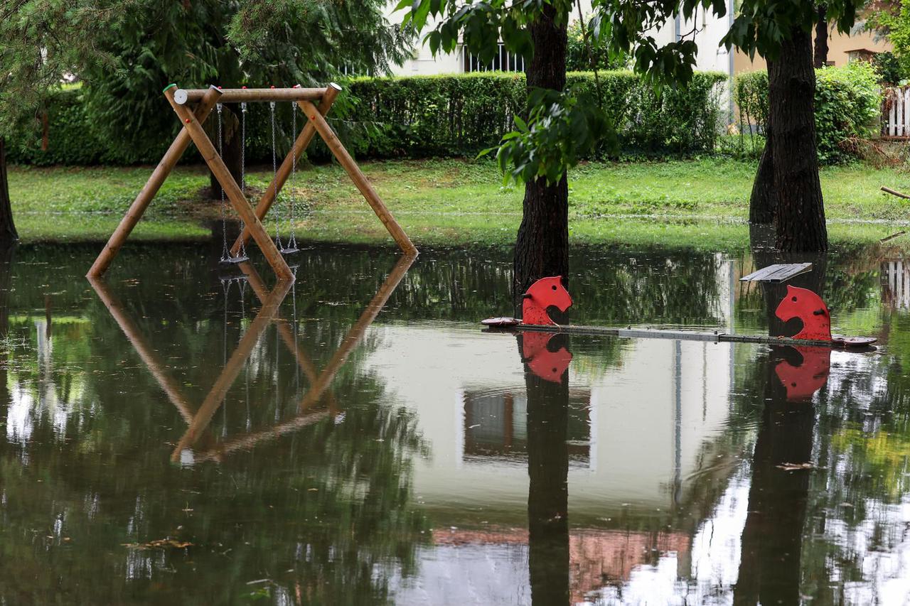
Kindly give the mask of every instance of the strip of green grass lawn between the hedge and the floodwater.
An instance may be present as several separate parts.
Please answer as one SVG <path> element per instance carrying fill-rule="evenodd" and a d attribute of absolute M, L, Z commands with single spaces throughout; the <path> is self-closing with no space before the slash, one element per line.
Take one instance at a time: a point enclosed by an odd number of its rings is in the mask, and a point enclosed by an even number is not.
<path fill-rule="evenodd" d="M 492 162 L 402 160 L 363 164 L 402 227 L 418 245 L 510 245 L 521 221 L 522 187 L 502 187 Z M 145 183 L 150 167 L 10 168 L 10 194 L 25 240 L 105 240 Z M 571 238 L 622 243 L 746 246 L 755 165 L 723 158 L 577 167 L 570 174 Z M 269 169 L 248 174 L 251 197 Z M 207 173 L 179 167 L 136 228 L 143 239 L 207 237 L 217 203 Z M 825 167 L 822 188 L 832 240 L 871 241 L 910 225 L 910 175 L 865 165 Z M 337 165 L 298 172 L 298 236 L 314 241 L 390 243 L 379 220 Z M 282 197 L 282 199 L 286 199 Z M 282 212 L 287 213 L 282 206 Z M 269 223 L 269 226 L 273 225 Z M 287 226 L 282 221 L 282 229 Z"/>

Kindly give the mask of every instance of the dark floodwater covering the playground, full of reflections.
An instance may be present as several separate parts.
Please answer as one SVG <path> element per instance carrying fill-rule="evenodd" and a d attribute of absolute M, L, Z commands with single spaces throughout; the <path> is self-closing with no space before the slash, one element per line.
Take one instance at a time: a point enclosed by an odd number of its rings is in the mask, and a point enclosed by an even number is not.
<path fill-rule="evenodd" d="M 875 353 L 484 333 L 495 251 L 310 248 L 289 290 L 183 245 L 89 283 L 96 252 L 0 259 L 4 604 L 910 594 L 899 251 L 817 265 Z M 572 321 L 763 333 L 754 266 L 577 249 Z"/>

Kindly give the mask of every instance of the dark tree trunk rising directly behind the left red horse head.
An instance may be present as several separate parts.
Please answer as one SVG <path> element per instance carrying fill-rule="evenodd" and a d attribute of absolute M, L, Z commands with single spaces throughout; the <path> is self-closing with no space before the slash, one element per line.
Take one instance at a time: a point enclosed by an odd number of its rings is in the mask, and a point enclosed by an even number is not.
<path fill-rule="evenodd" d="M 530 25 L 534 56 L 528 64 L 528 88 L 561 91 L 566 85 L 566 25 L 555 25 L 556 9 L 545 5 Z M 539 279 L 569 273 L 569 183 L 547 185 L 535 179 L 524 186 L 523 216 L 515 242 L 512 300 L 516 315 L 521 295 Z"/>

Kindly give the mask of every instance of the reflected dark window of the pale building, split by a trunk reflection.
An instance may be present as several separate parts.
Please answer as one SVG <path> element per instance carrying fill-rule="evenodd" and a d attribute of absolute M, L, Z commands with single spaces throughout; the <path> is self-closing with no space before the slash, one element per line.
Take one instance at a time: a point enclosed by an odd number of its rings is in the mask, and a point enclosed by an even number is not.
<path fill-rule="evenodd" d="M 464 397 L 464 461 L 527 459 L 527 407 L 524 387 L 466 393 Z M 569 395 L 570 465 L 588 467 L 591 460 L 591 393 L 573 389 Z"/>

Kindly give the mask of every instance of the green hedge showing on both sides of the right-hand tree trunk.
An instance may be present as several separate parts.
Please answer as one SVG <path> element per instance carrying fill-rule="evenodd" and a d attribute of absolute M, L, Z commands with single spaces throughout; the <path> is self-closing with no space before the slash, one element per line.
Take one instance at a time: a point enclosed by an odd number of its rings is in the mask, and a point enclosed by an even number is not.
<path fill-rule="evenodd" d="M 875 67 L 856 61 L 846 66 L 815 70 L 815 132 L 818 159 L 825 164 L 854 157 L 856 138 L 875 135 L 882 92 Z M 740 110 L 741 130 L 750 125 L 763 132 L 768 119 L 768 74 L 736 76 L 733 100 Z"/>

